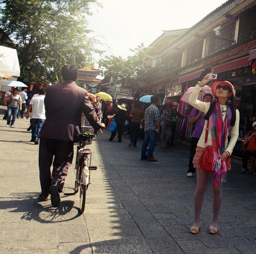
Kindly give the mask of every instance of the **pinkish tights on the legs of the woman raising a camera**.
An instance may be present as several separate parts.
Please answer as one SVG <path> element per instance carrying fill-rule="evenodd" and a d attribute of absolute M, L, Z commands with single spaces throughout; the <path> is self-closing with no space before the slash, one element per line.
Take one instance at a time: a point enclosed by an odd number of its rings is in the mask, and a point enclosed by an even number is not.
<path fill-rule="evenodd" d="M 194 195 L 194 209 L 195 209 L 195 221 L 194 225 L 196 227 L 200 226 L 200 213 L 204 200 L 204 192 L 207 187 L 208 175 L 209 173 L 204 169 L 197 168 L 197 186 Z M 218 182 L 218 186 L 212 185 L 213 188 L 213 219 L 210 226 L 217 227 L 218 215 L 222 203 L 222 182 Z"/>

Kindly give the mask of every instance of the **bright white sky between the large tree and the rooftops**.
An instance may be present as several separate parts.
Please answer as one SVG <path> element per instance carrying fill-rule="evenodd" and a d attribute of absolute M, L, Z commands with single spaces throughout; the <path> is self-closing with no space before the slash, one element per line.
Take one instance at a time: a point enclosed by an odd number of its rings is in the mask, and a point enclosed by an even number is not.
<path fill-rule="evenodd" d="M 149 46 L 163 32 L 190 28 L 225 0 L 99 0 L 103 8 L 92 8 L 88 28 L 106 44 L 106 55 L 132 55 L 141 42 Z M 102 37 L 104 38 L 102 38 Z M 97 56 L 96 56 L 97 58 Z"/>

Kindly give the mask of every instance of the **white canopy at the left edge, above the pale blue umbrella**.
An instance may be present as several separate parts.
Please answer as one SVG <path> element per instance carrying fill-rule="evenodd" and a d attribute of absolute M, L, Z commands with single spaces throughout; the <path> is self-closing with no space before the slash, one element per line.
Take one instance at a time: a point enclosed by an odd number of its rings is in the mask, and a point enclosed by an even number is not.
<path fill-rule="evenodd" d="M 16 49 L 0 46 L 0 73 L 20 76 L 20 64 Z"/>

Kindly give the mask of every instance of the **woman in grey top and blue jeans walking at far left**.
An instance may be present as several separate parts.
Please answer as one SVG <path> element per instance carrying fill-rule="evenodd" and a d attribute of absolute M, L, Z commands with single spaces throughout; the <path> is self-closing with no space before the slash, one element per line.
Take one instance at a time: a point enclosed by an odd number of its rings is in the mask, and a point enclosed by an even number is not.
<path fill-rule="evenodd" d="M 6 101 L 8 104 L 8 108 L 7 108 L 7 125 L 6 127 L 10 126 L 11 123 L 11 127 L 13 128 L 14 126 L 14 122 L 17 116 L 17 112 L 18 110 L 21 110 L 21 97 L 18 94 L 19 90 L 18 88 L 14 88 L 12 91 L 12 94 L 10 96 L 10 98 L 8 98 Z M 12 114 L 12 119 L 11 119 L 11 114 Z"/>

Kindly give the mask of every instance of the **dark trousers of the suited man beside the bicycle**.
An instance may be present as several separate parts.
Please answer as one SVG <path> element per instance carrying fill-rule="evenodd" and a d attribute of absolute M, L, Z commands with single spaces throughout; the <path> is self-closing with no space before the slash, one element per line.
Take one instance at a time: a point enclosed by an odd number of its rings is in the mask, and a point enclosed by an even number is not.
<path fill-rule="evenodd" d="M 49 195 L 49 188 L 56 185 L 61 192 L 72 164 L 74 145 L 71 141 L 40 138 L 39 142 L 39 178 L 42 195 Z M 54 157 L 54 158 L 53 158 Z M 51 174 L 51 166 L 53 166 Z"/>

